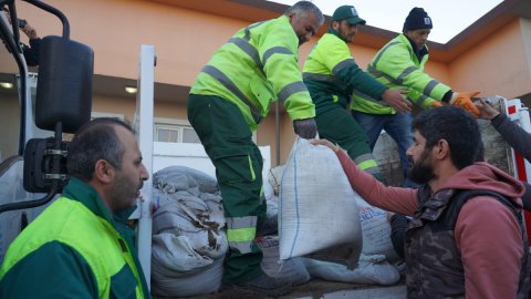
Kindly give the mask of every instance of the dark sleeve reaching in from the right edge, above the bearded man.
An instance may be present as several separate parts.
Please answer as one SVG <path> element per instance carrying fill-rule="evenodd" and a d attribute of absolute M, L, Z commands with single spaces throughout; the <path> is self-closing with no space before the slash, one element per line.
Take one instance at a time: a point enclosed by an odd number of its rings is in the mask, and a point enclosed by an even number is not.
<path fill-rule="evenodd" d="M 504 114 L 499 114 L 491 121 L 492 126 L 501 134 L 503 140 L 514 151 L 519 152 L 527 161 L 531 162 L 531 134 Z"/>

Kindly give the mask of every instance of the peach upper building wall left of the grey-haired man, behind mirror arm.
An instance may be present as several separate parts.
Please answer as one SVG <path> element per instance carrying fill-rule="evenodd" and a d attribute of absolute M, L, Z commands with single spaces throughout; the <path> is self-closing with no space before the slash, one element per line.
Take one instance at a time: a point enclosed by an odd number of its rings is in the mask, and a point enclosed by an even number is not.
<path fill-rule="evenodd" d="M 142 0 L 49 0 L 70 21 L 71 39 L 94 50 L 94 73 L 136 79 L 142 44 L 154 44 L 157 82 L 189 86 L 240 20 Z M 19 14 L 41 35 L 61 34 L 60 21 L 21 2 Z"/>

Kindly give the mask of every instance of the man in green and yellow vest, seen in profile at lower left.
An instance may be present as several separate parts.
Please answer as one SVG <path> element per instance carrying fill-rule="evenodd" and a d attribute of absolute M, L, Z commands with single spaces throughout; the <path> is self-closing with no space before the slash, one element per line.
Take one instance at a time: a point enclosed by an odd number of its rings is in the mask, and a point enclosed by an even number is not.
<path fill-rule="evenodd" d="M 60 198 L 9 246 L 0 298 L 150 298 L 126 220 L 149 175 L 132 128 L 115 118 L 81 127 Z"/>

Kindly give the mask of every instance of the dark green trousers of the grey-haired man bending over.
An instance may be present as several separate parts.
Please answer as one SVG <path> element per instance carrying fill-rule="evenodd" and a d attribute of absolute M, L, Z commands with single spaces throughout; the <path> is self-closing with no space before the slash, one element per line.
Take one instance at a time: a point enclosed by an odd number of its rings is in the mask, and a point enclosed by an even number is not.
<path fill-rule="evenodd" d="M 190 94 L 187 105 L 188 120 L 216 166 L 223 198 L 229 238 L 223 283 L 253 279 L 261 274 L 262 252 L 252 240 L 266 218 L 266 200 L 260 197 L 262 156 L 233 103 L 219 96 Z M 252 218 L 256 220 L 249 221 Z"/>

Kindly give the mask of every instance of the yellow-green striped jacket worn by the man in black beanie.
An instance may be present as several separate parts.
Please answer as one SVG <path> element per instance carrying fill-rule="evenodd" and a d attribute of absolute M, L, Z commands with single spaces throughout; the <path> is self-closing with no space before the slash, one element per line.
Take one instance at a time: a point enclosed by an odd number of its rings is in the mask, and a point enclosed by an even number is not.
<path fill-rule="evenodd" d="M 367 66 L 367 73 L 391 89 L 407 90 L 406 96 L 421 107 L 429 107 L 434 101 L 442 100 L 450 87 L 431 79 L 424 72 L 428 61 L 425 54 L 418 61 L 412 43 L 399 34 L 382 48 Z M 382 105 L 369 95 L 354 91 L 352 110 L 372 114 L 395 114 L 389 106 Z"/>

